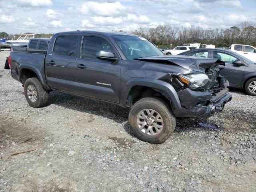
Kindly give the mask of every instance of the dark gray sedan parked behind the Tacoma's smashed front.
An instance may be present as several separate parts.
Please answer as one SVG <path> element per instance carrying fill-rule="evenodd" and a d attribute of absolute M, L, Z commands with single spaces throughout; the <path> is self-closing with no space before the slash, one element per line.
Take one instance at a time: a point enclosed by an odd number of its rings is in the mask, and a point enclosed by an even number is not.
<path fill-rule="evenodd" d="M 245 89 L 256 96 L 256 64 L 240 54 L 230 50 L 206 49 L 190 50 L 180 55 L 216 58 L 225 62 L 225 68 L 220 74 L 227 77 L 230 87 Z"/>

